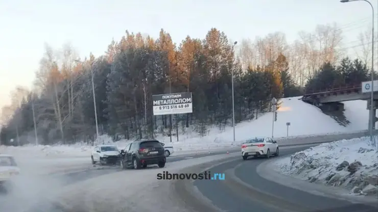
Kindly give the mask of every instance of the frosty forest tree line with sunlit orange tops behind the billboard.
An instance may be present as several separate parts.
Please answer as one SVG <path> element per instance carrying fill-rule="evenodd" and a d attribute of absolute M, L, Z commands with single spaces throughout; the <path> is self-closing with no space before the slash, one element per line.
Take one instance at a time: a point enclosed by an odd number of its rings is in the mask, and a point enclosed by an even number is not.
<path fill-rule="evenodd" d="M 341 40 L 336 25 L 317 30 L 332 32 L 328 40 Z M 179 139 L 188 131 L 206 136 L 210 127 L 224 130 L 232 123 L 232 73 L 235 123 L 269 111 L 273 97 L 368 79 L 366 61 L 340 57 L 339 43 L 324 42 L 333 49 L 324 45 L 312 50 L 306 62 L 285 42 L 284 34 L 276 33 L 257 38 L 258 51 L 246 40 L 238 51 L 215 28 L 204 39 L 187 36 L 179 45 L 164 30 L 156 40 L 126 31 L 120 41 L 111 41 L 103 56 L 90 54 L 84 60 L 70 45 L 60 54 L 46 45 L 35 89 L 18 87 L 12 105 L 3 108 L 0 140 L 10 144 L 13 139 L 13 144 L 21 145 L 34 143 L 37 135 L 40 144 L 93 143 L 97 134 L 93 90 L 100 135 L 114 140 L 159 135 Z M 192 92 L 192 114 L 153 115 L 152 95 L 178 92 Z"/>

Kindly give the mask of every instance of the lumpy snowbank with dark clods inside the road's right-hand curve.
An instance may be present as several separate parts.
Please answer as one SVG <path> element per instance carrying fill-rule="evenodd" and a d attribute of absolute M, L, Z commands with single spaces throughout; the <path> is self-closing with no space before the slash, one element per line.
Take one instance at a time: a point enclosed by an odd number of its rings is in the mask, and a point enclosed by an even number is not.
<path fill-rule="evenodd" d="M 277 160 L 275 169 L 313 183 L 345 188 L 351 194 L 376 194 L 378 152 L 368 142 L 369 137 L 363 137 L 324 143 Z"/>

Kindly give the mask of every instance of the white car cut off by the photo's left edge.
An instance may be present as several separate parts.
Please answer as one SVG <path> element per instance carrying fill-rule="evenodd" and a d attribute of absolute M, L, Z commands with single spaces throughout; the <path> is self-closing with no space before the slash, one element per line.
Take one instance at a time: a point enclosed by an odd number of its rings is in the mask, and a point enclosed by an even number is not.
<path fill-rule="evenodd" d="M 0 187 L 7 186 L 10 179 L 17 176 L 20 169 L 12 155 L 0 154 Z"/>

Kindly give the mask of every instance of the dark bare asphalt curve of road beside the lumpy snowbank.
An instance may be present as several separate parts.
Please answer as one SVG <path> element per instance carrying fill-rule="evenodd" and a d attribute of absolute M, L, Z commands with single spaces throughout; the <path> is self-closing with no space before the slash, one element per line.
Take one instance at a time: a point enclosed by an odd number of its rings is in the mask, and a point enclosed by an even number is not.
<path fill-rule="evenodd" d="M 292 154 L 303 149 L 306 148 L 281 150 L 280 156 Z M 317 196 L 269 181 L 256 173 L 257 166 L 264 160 L 266 159 L 251 158 L 243 161 L 242 157 L 240 157 L 240 160 L 213 167 L 208 171 L 211 171 L 211 173 L 225 173 L 225 180 L 196 180 L 194 186 L 212 204 L 228 212 L 378 211 L 378 208 L 369 205 L 352 204 L 348 201 Z M 253 188 L 244 186 L 239 180 Z"/>

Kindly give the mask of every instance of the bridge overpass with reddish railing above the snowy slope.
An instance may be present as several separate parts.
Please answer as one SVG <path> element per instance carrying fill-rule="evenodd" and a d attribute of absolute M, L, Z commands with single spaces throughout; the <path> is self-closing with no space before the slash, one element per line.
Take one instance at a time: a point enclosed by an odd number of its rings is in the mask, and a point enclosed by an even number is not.
<path fill-rule="evenodd" d="M 352 100 L 367 100 L 366 109 L 370 110 L 370 98 L 371 98 L 371 81 L 362 82 L 358 85 L 346 85 L 343 87 L 335 87 L 331 89 L 318 90 L 318 91 L 306 91 L 303 95 L 302 100 L 304 102 L 314 104 L 317 107 L 329 108 L 338 110 L 343 110 L 343 104 L 339 103 L 341 101 L 352 101 Z M 373 117 L 375 117 L 375 122 L 378 121 L 376 117 L 376 110 L 378 109 L 378 81 L 374 81 L 374 102 L 373 107 Z M 370 119 L 370 116 L 369 116 Z M 368 120 L 370 123 L 370 120 Z M 375 128 L 375 124 L 373 126 Z"/>

